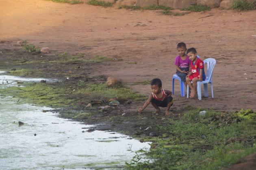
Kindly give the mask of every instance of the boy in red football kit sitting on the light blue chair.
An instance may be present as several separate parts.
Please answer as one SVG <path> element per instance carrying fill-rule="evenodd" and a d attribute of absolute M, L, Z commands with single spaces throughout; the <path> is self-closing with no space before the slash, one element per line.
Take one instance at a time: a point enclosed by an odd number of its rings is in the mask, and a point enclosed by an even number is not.
<path fill-rule="evenodd" d="M 196 89 L 197 89 L 197 81 L 204 81 L 205 74 L 204 74 L 204 62 L 197 57 L 197 52 L 195 48 L 190 48 L 187 50 L 187 55 L 189 56 L 190 63 L 190 72 L 186 76 L 186 82 L 191 89 L 190 98 L 195 97 Z M 192 81 L 192 83 L 191 83 Z"/>

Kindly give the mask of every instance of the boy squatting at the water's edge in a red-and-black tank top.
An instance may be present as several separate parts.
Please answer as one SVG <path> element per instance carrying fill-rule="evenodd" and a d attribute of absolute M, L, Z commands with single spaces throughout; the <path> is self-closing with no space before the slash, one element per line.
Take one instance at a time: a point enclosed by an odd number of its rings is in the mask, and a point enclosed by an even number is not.
<path fill-rule="evenodd" d="M 144 110 L 151 102 L 152 106 L 156 109 L 155 113 L 161 113 L 160 107 L 166 107 L 165 115 L 170 115 L 169 108 L 172 106 L 174 100 L 171 97 L 171 91 L 162 89 L 162 81 L 160 79 L 153 79 L 151 81 L 152 94 L 150 94 L 148 100 L 145 102 L 139 111 Z"/>

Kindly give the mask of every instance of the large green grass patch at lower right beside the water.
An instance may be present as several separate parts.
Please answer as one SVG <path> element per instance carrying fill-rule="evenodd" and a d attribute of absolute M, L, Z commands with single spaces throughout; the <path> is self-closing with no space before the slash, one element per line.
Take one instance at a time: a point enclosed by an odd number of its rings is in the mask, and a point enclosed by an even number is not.
<path fill-rule="evenodd" d="M 179 119 L 165 118 L 165 123 L 156 125 L 156 132 L 166 134 L 155 140 L 149 151 L 137 152 L 131 162 L 126 163 L 128 169 L 218 170 L 256 152 L 256 115 L 252 110 L 242 109 L 226 115 L 213 109 L 186 108 L 189 110 Z M 204 117 L 199 115 L 202 110 L 206 110 Z M 234 121 L 245 115 L 250 116 Z M 223 118 L 213 119 L 216 117 Z M 225 119 L 233 121 L 226 124 Z"/>

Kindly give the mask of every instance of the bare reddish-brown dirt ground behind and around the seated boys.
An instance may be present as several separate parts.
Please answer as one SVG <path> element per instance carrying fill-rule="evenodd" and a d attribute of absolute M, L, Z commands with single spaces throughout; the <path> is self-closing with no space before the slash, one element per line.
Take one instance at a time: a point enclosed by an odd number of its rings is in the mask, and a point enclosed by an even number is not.
<path fill-rule="evenodd" d="M 85 53 L 123 59 L 93 69 L 125 83 L 160 78 L 172 89 L 176 45 L 195 47 L 201 59 L 215 58 L 214 98 L 197 100 L 180 96 L 175 81 L 174 108 L 187 104 L 218 110 L 256 110 L 256 11 L 211 9 L 183 16 L 161 11 L 131 11 L 117 6 L 61 4 L 44 0 L 2 0 L 0 4 L 1 48 L 21 48 L 27 40 L 52 51 Z M 129 64 L 134 63 L 137 64 Z M 132 85 L 149 95 L 150 85 Z M 203 93 L 203 86 L 202 86 Z M 185 93 L 186 95 L 186 93 Z M 152 109 L 149 107 L 149 109 Z"/>

